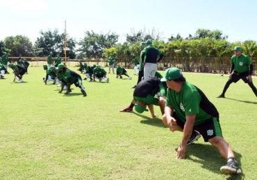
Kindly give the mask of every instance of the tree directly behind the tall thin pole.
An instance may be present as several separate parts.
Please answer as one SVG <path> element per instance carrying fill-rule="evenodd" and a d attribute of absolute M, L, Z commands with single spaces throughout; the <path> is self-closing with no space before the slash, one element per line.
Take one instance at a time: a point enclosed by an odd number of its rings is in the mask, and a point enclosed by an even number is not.
<path fill-rule="evenodd" d="M 60 54 L 64 57 L 64 33 L 58 33 L 58 30 L 40 30 L 40 37 L 35 41 L 35 53 L 39 56 L 47 56 L 49 53 L 53 53 L 53 57 Z M 76 41 L 73 38 L 67 36 L 67 57 L 74 59 L 75 55 Z"/>

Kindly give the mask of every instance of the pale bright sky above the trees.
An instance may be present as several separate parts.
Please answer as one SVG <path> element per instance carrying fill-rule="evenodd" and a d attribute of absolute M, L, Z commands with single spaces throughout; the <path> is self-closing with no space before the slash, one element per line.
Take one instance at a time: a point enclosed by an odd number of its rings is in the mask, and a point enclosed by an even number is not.
<path fill-rule="evenodd" d="M 164 41 L 171 35 L 194 35 L 198 28 L 221 30 L 229 42 L 257 41 L 254 0 L 0 0 L 0 40 L 25 35 L 31 42 L 40 30 L 66 28 L 77 41 L 86 30 L 114 32 L 119 42 L 131 30 L 155 28 Z"/>

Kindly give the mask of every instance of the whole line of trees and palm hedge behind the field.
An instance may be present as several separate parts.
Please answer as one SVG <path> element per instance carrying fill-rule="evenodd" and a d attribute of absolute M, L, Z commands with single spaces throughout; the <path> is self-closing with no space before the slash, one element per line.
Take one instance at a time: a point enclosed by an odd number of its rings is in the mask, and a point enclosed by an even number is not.
<path fill-rule="evenodd" d="M 56 57 L 64 56 L 64 33 L 58 30 L 40 31 L 33 44 L 24 35 L 6 37 L 0 41 L 0 55 L 3 52 L 11 57 L 46 57 L 49 53 Z M 234 46 L 242 46 L 245 54 L 257 57 L 257 44 L 254 40 L 244 42 L 229 42 L 228 36 L 223 35 L 221 30 L 208 30 L 199 28 L 194 35 L 181 37 L 180 34 L 171 35 L 167 42 L 163 41 L 156 29 L 142 29 L 135 31 L 131 29 L 126 34 L 126 41 L 118 43 L 117 33 L 95 33 L 93 30 L 85 31 L 85 36 L 76 41 L 67 35 L 67 57 L 74 58 L 105 58 L 110 53 L 124 62 L 131 60 L 133 55 L 139 57 L 140 42 L 153 39 L 153 45 L 160 49 L 168 58 L 194 58 L 194 57 L 231 57 Z"/>

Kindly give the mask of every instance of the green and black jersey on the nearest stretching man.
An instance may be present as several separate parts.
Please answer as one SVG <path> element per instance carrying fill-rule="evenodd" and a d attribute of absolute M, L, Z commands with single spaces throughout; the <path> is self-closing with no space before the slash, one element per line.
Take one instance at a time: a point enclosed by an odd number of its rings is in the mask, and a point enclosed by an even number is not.
<path fill-rule="evenodd" d="M 185 123 L 185 116 L 196 115 L 194 125 L 204 123 L 212 117 L 219 117 L 219 113 L 204 93 L 189 82 L 184 82 L 181 91 L 168 89 L 167 106 L 173 107 L 179 118 Z"/>

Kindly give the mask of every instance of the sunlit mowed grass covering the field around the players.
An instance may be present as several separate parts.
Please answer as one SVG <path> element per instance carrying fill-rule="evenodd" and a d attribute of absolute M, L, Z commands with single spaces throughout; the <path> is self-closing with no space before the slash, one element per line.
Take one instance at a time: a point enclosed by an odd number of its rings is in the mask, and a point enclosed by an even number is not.
<path fill-rule="evenodd" d="M 176 159 L 182 134 L 163 126 L 158 107 L 154 119 L 149 112 L 120 113 L 132 100 L 138 76 L 121 80 L 108 74 L 108 84 L 83 80 L 84 98 L 74 85 L 69 96 L 50 82 L 44 85 L 45 71 L 31 67 L 24 83 L 12 82 L 13 74 L 0 80 L 0 179 L 256 179 L 254 93 L 240 81 L 219 99 L 227 76 L 184 75 L 219 110 L 242 176 L 221 174 L 226 161 L 203 138 L 188 146 L 185 160 Z"/>

